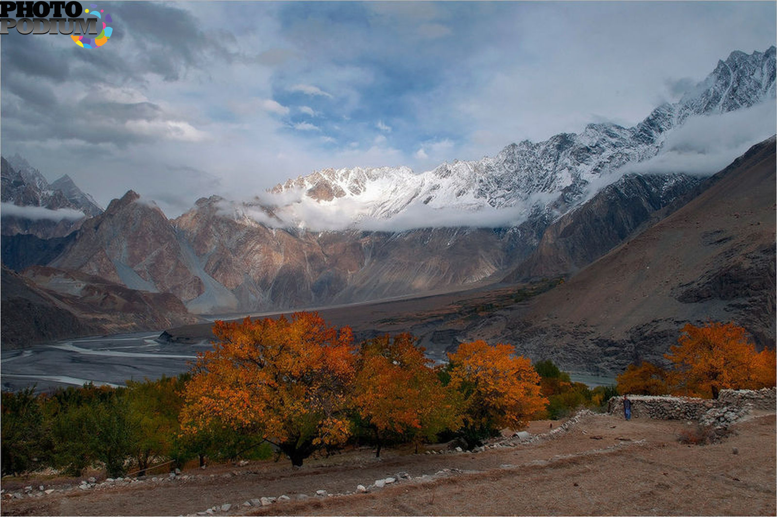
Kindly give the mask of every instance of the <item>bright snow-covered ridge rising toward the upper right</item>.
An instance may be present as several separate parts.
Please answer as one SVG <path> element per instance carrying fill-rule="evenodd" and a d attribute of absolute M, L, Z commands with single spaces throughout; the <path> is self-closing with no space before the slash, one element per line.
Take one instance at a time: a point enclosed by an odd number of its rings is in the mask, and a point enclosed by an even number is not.
<path fill-rule="evenodd" d="M 497 226 L 537 214 L 557 217 L 590 197 L 591 183 L 604 187 L 625 165 L 659 155 L 667 136 L 689 119 L 774 98 L 775 47 L 734 51 L 681 100 L 664 103 L 632 128 L 588 124 L 579 134 L 521 141 L 493 157 L 446 162 L 420 174 L 407 167 L 322 169 L 235 211 L 267 225 L 308 229 Z"/>

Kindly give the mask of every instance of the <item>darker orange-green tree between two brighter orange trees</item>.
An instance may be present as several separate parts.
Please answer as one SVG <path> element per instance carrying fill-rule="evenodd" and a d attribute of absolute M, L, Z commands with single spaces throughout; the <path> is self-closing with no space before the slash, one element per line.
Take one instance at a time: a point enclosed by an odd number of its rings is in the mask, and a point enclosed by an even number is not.
<path fill-rule="evenodd" d="M 361 345 L 354 405 L 375 433 L 380 456 L 387 433 L 417 446 L 444 428 L 458 425 L 455 403 L 411 334 L 376 337 Z"/>

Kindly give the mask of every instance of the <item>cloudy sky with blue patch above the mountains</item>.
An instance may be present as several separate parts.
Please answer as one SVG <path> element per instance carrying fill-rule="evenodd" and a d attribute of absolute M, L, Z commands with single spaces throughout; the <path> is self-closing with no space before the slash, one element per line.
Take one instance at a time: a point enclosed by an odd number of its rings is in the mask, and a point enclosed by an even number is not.
<path fill-rule="evenodd" d="M 86 2 L 82 2 L 86 5 Z M 0 152 L 169 217 L 315 169 L 495 155 L 629 127 L 731 51 L 775 44 L 775 2 L 100 2 L 113 36 L 0 37 Z"/>

